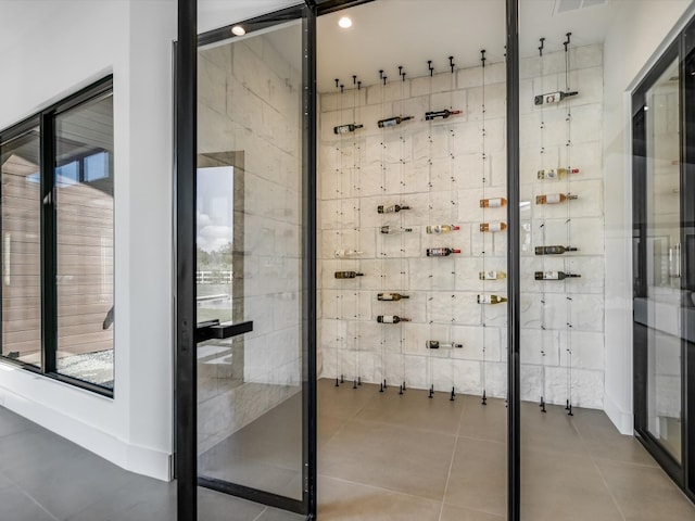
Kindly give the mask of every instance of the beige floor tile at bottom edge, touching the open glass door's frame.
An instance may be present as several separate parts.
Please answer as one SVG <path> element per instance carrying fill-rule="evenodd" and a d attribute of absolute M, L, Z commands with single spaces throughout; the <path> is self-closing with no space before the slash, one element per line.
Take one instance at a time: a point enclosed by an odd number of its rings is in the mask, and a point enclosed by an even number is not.
<path fill-rule="evenodd" d="M 438 521 L 440 503 L 320 475 L 320 521 Z"/>

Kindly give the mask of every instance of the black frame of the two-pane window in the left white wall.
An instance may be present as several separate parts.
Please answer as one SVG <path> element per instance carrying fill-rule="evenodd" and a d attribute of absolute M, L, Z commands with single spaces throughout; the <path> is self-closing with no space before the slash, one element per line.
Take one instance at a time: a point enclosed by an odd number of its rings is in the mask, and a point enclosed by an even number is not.
<path fill-rule="evenodd" d="M 0 130 L 0 143 L 9 142 L 33 128 L 39 128 L 39 173 L 40 173 L 40 331 L 41 331 L 41 361 L 40 365 L 31 365 L 15 358 L 3 355 L 0 351 L 0 361 L 10 364 L 15 367 L 25 369 L 36 374 L 40 374 L 52 380 L 67 383 L 87 391 L 106 396 L 114 397 L 115 393 L 115 359 L 113 364 L 114 385 L 106 387 L 86 380 L 60 373 L 58 370 L 58 227 L 56 227 L 56 209 L 55 209 L 55 176 L 54 170 L 58 167 L 55 157 L 55 118 L 73 109 L 79 107 L 100 98 L 113 97 L 113 74 L 90 84 L 89 86 L 63 98 L 62 100 L 46 106 L 45 109 L 31 114 L 23 120 Z M 113 155 L 109 154 L 109 164 L 113 168 Z M 79 158 L 78 182 L 81 179 L 84 169 L 84 157 Z M 112 169 L 113 171 L 113 169 Z M 114 176 L 115 177 L 115 176 Z M 1 194 L 0 186 L 0 194 Z M 115 189 L 114 189 L 115 193 Z M 114 208 L 115 215 L 115 208 Z M 0 220 L 1 227 L 1 220 Z M 115 223 L 114 223 L 115 230 Z M 2 244 L 0 244 L 0 255 L 2 254 Z M 114 244 L 115 258 L 115 244 Z M 115 279 L 115 274 L 114 274 Z M 115 287 L 115 280 L 114 280 Z M 2 287 L 0 287 L 0 300 L 2 298 Z M 0 307 L 0 345 L 2 345 L 2 326 L 1 326 L 2 308 Z M 113 350 L 115 351 L 115 330 L 113 336 Z"/>

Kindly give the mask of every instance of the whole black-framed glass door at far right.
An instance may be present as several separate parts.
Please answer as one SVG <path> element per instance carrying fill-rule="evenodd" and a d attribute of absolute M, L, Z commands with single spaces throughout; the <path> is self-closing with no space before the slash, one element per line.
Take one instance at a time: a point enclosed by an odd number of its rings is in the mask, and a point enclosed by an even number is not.
<path fill-rule="evenodd" d="M 635 430 L 686 492 L 695 372 L 695 60 L 683 47 L 687 34 L 633 94 Z"/>

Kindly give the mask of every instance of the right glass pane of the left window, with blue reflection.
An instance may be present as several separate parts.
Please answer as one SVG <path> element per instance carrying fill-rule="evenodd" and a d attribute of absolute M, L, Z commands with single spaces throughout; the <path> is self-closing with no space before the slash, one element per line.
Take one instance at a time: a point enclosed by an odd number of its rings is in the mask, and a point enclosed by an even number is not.
<path fill-rule="evenodd" d="M 113 389 L 113 99 L 55 117 L 58 371 Z"/>

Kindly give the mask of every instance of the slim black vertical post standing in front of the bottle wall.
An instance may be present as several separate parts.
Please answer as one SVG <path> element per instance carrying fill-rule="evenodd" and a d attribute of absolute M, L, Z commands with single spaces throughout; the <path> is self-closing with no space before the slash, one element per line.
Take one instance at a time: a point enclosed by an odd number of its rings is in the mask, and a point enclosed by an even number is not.
<path fill-rule="evenodd" d="M 519 397 L 519 2 L 507 0 L 507 520 L 521 517 Z"/>

